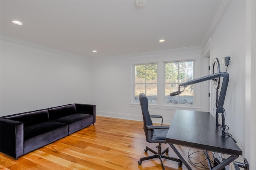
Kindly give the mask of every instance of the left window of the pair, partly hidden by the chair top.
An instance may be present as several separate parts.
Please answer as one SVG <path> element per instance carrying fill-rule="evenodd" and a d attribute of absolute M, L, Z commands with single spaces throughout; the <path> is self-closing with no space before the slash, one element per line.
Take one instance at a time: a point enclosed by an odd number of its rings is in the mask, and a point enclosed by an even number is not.
<path fill-rule="evenodd" d="M 148 102 L 157 102 L 157 64 L 134 65 L 134 100 L 139 102 L 139 94 L 144 93 Z"/>

